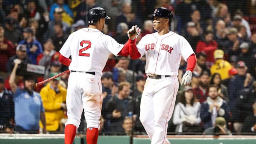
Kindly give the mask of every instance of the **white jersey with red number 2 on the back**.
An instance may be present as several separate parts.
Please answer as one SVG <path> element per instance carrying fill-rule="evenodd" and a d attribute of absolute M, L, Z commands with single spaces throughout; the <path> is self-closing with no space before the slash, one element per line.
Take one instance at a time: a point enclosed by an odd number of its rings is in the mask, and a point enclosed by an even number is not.
<path fill-rule="evenodd" d="M 66 58 L 71 55 L 69 70 L 97 72 L 101 76 L 109 55 L 117 56 L 123 47 L 97 29 L 83 28 L 69 35 L 60 53 Z"/>

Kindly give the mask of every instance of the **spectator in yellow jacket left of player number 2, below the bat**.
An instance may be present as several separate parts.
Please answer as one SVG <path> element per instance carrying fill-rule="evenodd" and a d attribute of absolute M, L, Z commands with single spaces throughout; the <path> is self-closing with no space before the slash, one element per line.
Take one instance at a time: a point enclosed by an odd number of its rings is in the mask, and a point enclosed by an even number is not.
<path fill-rule="evenodd" d="M 58 73 L 51 73 L 51 76 Z M 65 118 L 67 90 L 59 84 L 60 78 L 51 80 L 40 91 L 43 106 L 45 108 L 46 130 L 50 133 L 58 133 L 61 130 L 60 121 Z M 40 123 L 40 127 L 43 125 Z"/>

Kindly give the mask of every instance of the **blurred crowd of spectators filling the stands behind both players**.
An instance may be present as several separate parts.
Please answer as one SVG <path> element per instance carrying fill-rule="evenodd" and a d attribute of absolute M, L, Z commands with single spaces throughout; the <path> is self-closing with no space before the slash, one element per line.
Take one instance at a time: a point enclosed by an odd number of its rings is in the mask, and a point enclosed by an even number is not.
<path fill-rule="evenodd" d="M 256 134 L 256 0 L 0 0 L 0 133 L 63 133 L 69 74 L 58 61 L 68 35 L 87 27 L 87 12 L 103 7 L 102 31 L 120 44 L 138 25 L 154 33 L 157 7 L 172 11 L 170 30 L 192 46 L 197 64 L 180 86 L 169 134 Z M 145 57 L 109 56 L 103 69 L 100 135 L 146 134 L 139 121 L 147 76 Z M 36 67 L 32 67 L 36 66 Z M 32 67 L 32 68 L 31 68 Z M 44 69 L 44 74 L 28 69 Z M 181 60 L 179 81 L 187 63 Z M 86 132 L 82 115 L 77 133 Z"/>

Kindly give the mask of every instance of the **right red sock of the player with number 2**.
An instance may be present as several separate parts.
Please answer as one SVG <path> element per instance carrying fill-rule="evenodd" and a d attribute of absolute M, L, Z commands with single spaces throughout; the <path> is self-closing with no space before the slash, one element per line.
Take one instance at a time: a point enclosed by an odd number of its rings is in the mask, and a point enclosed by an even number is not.
<path fill-rule="evenodd" d="M 87 128 L 87 131 L 86 131 L 87 144 L 97 144 L 98 135 L 99 135 L 98 128 Z"/>

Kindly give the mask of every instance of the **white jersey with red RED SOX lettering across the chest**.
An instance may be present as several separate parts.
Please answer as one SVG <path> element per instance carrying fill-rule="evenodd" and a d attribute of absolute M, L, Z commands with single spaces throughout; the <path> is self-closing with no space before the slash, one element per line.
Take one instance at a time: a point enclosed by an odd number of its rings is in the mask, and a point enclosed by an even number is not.
<path fill-rule="evenodd" d="M 158 32 L 142 37 L 137 45 L 141 57 L 146 54 L 146 74 L 178 76 L 181 56 L 186 61 L 194 53 L 189 42 L 174 32 Z"/>

